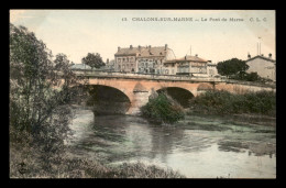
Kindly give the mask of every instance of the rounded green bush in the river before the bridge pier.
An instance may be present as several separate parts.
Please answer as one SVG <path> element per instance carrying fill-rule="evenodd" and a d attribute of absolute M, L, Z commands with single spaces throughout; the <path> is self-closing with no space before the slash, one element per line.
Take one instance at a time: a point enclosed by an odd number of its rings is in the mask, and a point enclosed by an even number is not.
<path fill-rule="evenodd" d="M 185 117 L 183 108 L 164 93 L 150 99 L 146 106 L 141 108 L 141 112 L 143 117 L 157 123 L 175 123 Z"/>

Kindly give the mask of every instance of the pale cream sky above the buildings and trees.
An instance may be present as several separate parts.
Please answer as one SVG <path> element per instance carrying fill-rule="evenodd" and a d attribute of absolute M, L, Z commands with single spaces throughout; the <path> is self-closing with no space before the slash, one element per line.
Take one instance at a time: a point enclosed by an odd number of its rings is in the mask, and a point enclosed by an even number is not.
<path fill-rule="evenodd" d="M 218 63 L 256 56 L 261 43 L 261 54 L 276 58 L 275 10 L 10 10 L 10 23 L 28 27 L 54 56 L 64 53 L 76 64 L 88 53 L 106 60 L 118 46 L 165 44 L 177 58 L 197 54 Z"/>

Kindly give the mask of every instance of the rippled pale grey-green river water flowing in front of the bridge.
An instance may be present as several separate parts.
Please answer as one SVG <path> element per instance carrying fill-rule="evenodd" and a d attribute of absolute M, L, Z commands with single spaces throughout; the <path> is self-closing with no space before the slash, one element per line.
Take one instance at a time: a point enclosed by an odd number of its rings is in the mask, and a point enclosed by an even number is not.
<path fill-rule="evenodd" d="M 100 115 L 77 109 L 73 155 L 107 165 L 124 162 L 172 168 L 187 178 L 276 178 L 276 128 L 187 115 L 174 125 L 141 117 Z"/>

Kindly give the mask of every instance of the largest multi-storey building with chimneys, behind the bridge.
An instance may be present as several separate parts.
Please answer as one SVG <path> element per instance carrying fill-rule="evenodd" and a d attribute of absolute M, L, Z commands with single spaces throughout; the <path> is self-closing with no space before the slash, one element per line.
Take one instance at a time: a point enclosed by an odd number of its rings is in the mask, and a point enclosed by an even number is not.
<path fill-rule="evenodd" d="M 138 46 L 129 48 L 118 47 L 116 57 L 116 70 L 127 73 L 163 74 L 164 62 L 174 58 L 174 53 L 165 46 Z"/>

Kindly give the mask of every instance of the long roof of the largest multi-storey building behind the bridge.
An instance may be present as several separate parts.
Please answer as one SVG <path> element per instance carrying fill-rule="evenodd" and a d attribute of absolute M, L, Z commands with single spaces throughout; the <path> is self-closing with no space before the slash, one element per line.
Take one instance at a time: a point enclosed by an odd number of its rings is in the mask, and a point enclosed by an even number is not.
<path fill-rule="evenodd" d="M 119 48 L 119 51 L 114 55 L 116 56 L 138 55 L 139 57 L 165 56 L 166 55 L 165 48 L 168 49 L 168 47 L 165 47 L 165 46 L 124 47 L 124 48 Z"/>

